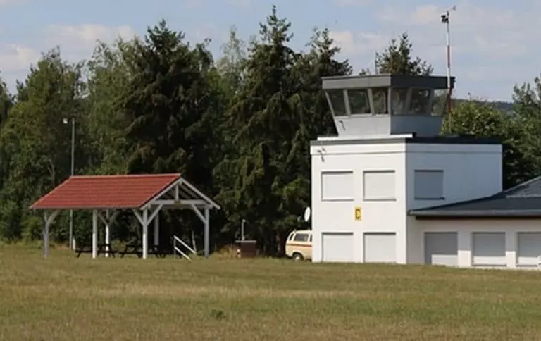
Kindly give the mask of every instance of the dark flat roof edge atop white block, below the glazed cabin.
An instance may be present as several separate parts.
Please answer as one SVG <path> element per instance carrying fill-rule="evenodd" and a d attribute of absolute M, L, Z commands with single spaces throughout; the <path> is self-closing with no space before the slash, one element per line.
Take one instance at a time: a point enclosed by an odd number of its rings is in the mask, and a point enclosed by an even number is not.
<path fill-rule="evenodd" d="M 321 145 L 337 145 L 337 144 L 368 144 L 368 143 L 408 143 L 408 144 L 502 144 L 502 140 L 494 138 L 481 138 L 481 137 L 389 137 L 389 138 L 356 138 L 351 137 L 347 139 L 336 140 L 311 140 L 311 146 Z"/>

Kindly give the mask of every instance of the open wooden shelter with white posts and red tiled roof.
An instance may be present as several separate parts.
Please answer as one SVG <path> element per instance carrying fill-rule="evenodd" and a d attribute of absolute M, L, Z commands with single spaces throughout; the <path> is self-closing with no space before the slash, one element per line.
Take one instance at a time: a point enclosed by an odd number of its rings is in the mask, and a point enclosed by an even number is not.
<path fill-rule="evenodd" d="M 97 257 L 98 218 L 109 228 L 119 211 L 131 210 L 142 225 L 142 258 L 149 254 L 148 228 L 154 221 L 154 245 L 159 244 L 159 216 L 162 209 L 192 209 L 204 223 L 204 254 L 209 256 L 209 211 L 220 206 L 197 190 L 180 174 L 75 175 L 70 176 L 32 206 L 44 214 L 43 253 L 49 254 L 49 228 L 58 213 L 66 209 L 92 210 L 92 258 Z"/>

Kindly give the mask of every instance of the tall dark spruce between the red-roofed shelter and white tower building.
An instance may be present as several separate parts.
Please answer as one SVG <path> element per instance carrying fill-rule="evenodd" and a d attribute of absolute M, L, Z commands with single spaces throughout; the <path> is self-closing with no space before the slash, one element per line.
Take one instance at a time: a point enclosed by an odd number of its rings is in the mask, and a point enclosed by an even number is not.
<path fill-rule="evenodd" d="M 228 176 L 232 178 L 232 185 L 219 196 L 229 218 L 226 230 L 237 230 L 241 219 L 247 219 L 249 234 L 265 252 L 276 249 L 276 231 L 283 227 L 277 178 L 299 128 L 290 103 L 296 89 L 292 69 L 298 58 L 288 46 L 290 27 L 275 6 L 266 23 L 260 24 L 259 41 L 249 48 L 245 79 L 228 113 L 237 130 L 238 151 L 216 172 L 225 186 Z"/>

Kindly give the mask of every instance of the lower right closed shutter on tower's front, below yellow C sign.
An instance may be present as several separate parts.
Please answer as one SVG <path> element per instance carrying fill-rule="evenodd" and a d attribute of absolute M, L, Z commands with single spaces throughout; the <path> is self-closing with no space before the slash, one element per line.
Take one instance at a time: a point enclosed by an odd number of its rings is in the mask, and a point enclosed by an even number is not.
<path fill-rule="evenodd" d="M 394 233 L 365 233 L 364 261 L 366 263 L 396 263 L 396 235 Z"/>

